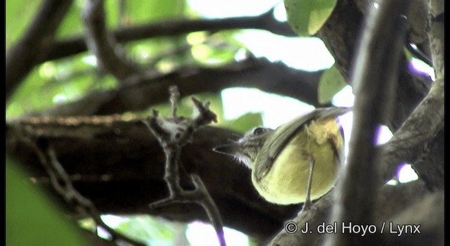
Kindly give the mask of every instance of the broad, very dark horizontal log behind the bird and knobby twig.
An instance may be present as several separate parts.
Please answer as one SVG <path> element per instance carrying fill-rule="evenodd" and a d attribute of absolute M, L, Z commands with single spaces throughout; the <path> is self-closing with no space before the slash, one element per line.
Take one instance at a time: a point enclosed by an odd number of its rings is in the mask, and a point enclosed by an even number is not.
<path fill-rule="evenodd" d="M 75 188 L 94 202 L 102 214 L 153 214 L 179 221 L 208 221 L 202 207 L 195 204 L 148 208 L 149 202 L 167 198 L 168 190 L 162 178 L 165 155 L 141 120 L 109 116 L 8 122 L 7 152 L 34 170 L 40 186 L 49 186 L 48 179 L 42 178 L 46 173 L 34 151 L 18 139 L 20 132 L 27 129 L 54 146 Z M 186 144 L 181 152 L 184 166 L 180 169 L 181 186 L 193 188 L 188 174 L 195 172 L 216 202 L 225 226 L 266 240 L 299 207 L 276 206 L 264 201 L 253 188 L 248 169 L 212 151 L 238 136 L 214 127 L 196 131 L 193 142 Z"/>

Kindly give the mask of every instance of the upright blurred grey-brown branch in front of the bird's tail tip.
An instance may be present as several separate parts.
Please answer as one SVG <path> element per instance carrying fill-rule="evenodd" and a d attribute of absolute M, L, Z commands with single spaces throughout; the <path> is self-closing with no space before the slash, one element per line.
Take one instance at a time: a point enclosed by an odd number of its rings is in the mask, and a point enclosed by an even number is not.
<path fill-rule="evenodd" d="M 383 1 L 368 15 L 354 68 L 354 124 L 333 221 L 371 224 L 378 188 L 375 134 L 390 112 L 404 43 L 407 1 Z M 340 227 L 339 227 L 340 228 Z M 339 230 L 339 229 L 338 229 Z M 330 234 L 328 245 L 367 245 L 360 235 Z"/>

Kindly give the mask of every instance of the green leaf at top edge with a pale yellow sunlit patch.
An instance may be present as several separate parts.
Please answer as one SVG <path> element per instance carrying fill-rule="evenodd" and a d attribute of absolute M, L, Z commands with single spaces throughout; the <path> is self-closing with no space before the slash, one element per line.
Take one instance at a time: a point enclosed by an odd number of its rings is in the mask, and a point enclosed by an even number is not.
<path fill-rule="evenodd" d="M 316 34 L 328 20 L 337 0 L 284 0 L 288 22 L 300 36 Z"/>

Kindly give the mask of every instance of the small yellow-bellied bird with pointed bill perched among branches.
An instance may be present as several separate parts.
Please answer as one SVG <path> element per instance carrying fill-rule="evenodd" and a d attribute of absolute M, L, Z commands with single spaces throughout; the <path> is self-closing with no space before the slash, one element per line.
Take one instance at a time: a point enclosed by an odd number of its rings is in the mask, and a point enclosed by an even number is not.
<path fill-rule="evenodd" d="M 349 108 L 317 108 L 277 129 L 258 127 L 236 143 L 213 150 L 252 169 L 259 195 L 290 205 L 321 198 L 333 188 L 344 161 L 344 135 L 337 117 Z"/>

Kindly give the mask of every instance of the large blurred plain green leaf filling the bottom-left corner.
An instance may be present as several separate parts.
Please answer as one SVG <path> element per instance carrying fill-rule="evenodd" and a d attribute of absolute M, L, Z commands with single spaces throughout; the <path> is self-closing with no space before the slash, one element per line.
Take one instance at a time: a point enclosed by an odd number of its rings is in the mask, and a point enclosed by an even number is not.
<path fill-rule="evenodd" d="M 6 157 L 6 245 L 89 245 L 56 203 Z"/>

